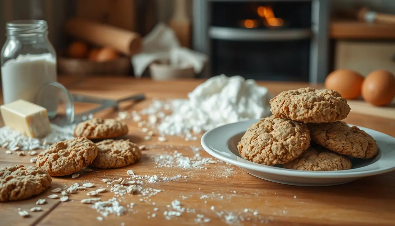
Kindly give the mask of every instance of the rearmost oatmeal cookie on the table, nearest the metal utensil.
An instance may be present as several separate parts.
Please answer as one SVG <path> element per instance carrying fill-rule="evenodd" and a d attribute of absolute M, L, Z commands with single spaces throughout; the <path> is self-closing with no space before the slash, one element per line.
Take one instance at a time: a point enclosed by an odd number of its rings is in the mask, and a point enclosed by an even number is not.
<path fill-rule="evenodd" d="M 128 126 L 112 118 L 94 118 L 79 123 L 74 129 L 74 137 L 88 139 L 108 139 L 128 134 Z"/>

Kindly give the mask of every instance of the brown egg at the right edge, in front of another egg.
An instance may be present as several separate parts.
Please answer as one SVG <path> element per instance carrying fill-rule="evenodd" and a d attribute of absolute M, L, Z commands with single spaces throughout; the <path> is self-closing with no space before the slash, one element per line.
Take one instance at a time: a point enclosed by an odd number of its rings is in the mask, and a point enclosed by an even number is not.
<path fill-rule="evenodd" d="M 362 84 L 363 99 L 375 106 L 383 106 L 395 97 L 395 76 L 387 70 L 375 70 Z"/>

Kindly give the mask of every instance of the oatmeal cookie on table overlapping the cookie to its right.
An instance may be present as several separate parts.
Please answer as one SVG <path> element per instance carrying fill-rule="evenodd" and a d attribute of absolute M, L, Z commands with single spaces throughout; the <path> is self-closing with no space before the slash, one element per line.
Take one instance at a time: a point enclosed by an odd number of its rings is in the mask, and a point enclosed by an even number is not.
<path fill-rule="evenodd" d="M 85 137 L 59 141 L 43 150 L 37 165 L 51 176 L 65 176 L 78 172 L 92 163 L 98 154 L 96 144 Z"/>

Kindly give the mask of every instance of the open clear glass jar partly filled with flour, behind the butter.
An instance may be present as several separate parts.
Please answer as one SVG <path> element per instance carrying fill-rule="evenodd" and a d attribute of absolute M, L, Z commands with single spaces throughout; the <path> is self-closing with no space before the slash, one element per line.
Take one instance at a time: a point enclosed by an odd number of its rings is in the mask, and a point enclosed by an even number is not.
<path fill-rule="evenodd" d="M 18 99 L 34 103 L 37 90 L 56 81 L 56 53 L 47 28 L 43 20 L 6 23 L 7 41 L 1 51 L 4 104 Z M 55 107 L 55 97 L 47 98 Z"/>

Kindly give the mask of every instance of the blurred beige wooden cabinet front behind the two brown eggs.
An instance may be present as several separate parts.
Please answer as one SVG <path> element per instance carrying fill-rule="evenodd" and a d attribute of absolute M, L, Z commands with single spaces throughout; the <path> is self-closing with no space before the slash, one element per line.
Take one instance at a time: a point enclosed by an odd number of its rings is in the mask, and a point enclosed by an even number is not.
<path fill-rule="evenodd" d="M 373 70 L 395 73 L 395 42 L 337 41 L 334 69 L 351 69 L 366 76 Z"/>

